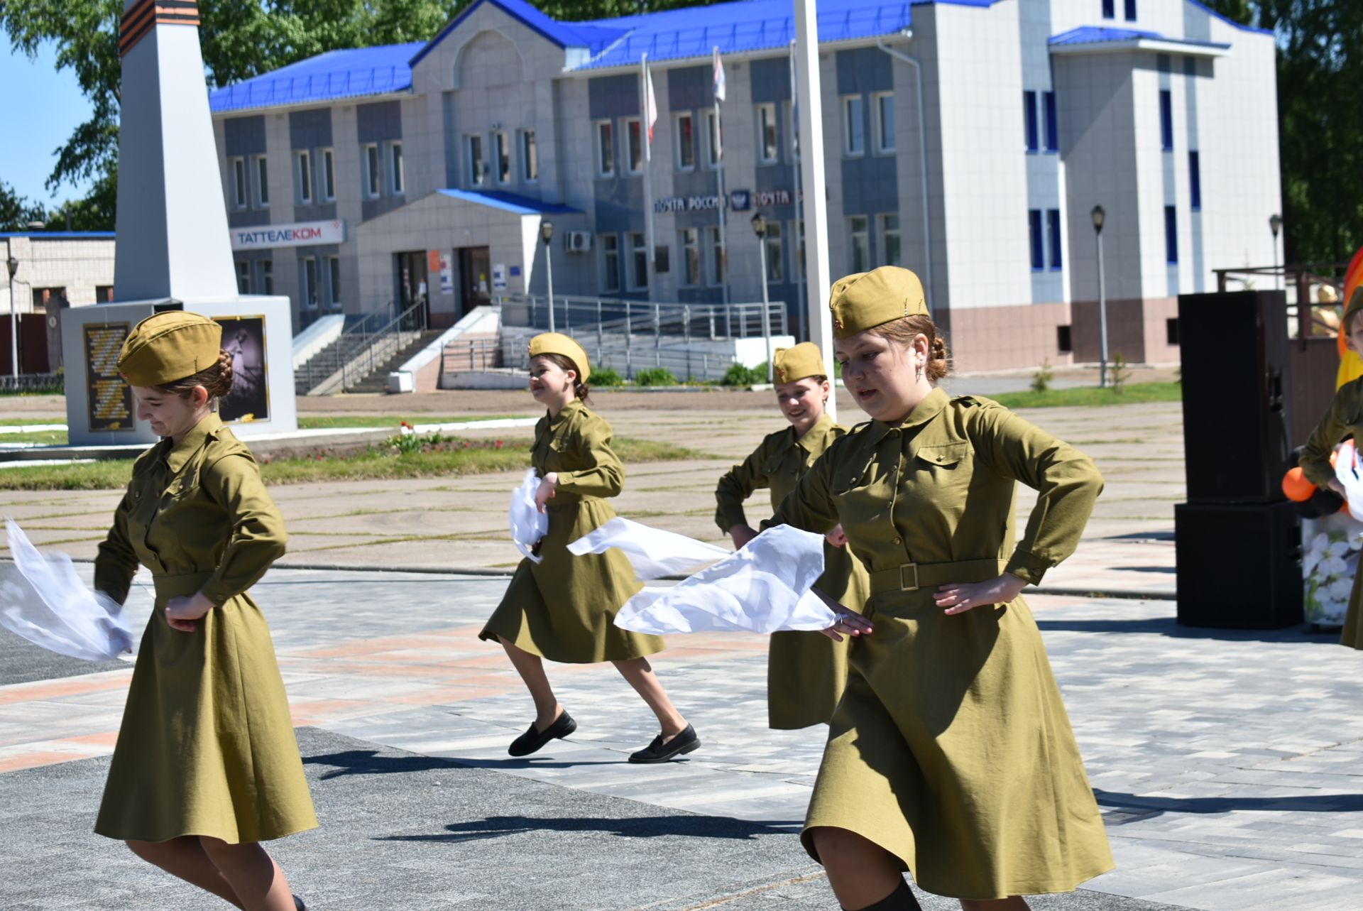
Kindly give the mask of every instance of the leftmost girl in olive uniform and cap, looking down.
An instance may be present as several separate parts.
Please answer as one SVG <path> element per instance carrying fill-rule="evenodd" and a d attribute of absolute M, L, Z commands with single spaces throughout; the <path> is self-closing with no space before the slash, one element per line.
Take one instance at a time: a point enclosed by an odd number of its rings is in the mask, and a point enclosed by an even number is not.
<path fill-rule="evenodd" d="M 251 450 L 214 412 L 232 389 L 221 326 L 165 312 L 132 330 L 119 372 L 164 439 L 132 466 L 94 565 L 121 603 L 138 566 L 142 636 L 95 832 L 249 911 L 296 911 L 260 841 L 318 825 L 270 629 L 251 588 L 284 554 L 284 520 Z"/>

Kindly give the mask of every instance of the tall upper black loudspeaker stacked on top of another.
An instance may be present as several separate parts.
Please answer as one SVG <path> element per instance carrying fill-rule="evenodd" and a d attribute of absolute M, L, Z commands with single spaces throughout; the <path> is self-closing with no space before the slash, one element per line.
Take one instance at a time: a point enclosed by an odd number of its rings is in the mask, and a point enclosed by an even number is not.
<path fill-rule="evenodd" d="M 1180 295 L 1179 349 L 1189 502 L 1281 501 L 1295 445 L 1285 293 Z"/>

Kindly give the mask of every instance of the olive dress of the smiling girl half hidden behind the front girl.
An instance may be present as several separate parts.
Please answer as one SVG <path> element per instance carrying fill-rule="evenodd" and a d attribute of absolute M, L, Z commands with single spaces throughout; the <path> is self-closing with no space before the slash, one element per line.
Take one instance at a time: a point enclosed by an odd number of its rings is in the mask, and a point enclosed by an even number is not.
<path fill-rule="evenodd" d="M 846 430 L 827 415 L 797 436 L 795 427 L 769 434 L 751 455 L 720 479 L 714 490 L 718 509 L 714 521 L 728 533 L 735 525 L 747 525 L 743 501 L 752 491 L 767 488 L 771 509 L 795 490 L 800 476 L 810 471 L 833 440 Z M 853 610 L 861 610 L 871 593 L 866 570 L 845 547 L 823 544 L 823 576 L 815 582 L 819 591 Z M 767 652 L 767 726 L 801 728 L 822 724 L 833 715 L 848 681 L 849 640 L 834 642 L 823 633 L 786 630 L 771 636 Z"/>

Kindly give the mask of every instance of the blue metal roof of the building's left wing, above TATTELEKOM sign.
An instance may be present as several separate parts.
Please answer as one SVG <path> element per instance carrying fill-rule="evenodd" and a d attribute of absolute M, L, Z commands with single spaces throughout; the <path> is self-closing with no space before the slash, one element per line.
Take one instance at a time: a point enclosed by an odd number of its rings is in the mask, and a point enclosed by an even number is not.
<path fill-rule="evenodd" d="M 244 108 L 273 108 L 334 101 L 354 95 L 383 95 L 412 87 L 408 63 L 424 42 L 330 50 L 209 94 L 209 108 L 221 113 Z"/>

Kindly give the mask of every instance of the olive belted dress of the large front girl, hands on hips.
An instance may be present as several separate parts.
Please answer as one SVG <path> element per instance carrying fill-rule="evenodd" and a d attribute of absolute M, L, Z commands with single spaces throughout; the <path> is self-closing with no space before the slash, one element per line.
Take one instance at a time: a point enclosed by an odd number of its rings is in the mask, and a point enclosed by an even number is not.
<path fill-rule="evenodd" d="M 1040 498 L 1017 547 L 1017 481 Z M 874 631 L 848 687 L 803 833 L 851 829 L 924 889 L 958 899 L 1066 892 L 1112 869 L 1036 622 L 1022 599 L 947 616 L 932 595 L 1069 556 L 1103 488 L 1093 462 L 983 398 L 934 390 L 900 427 L 861 424 L 771 518 L 842 525 L 867 567 Z M 816 856 L 816 855 L 815 855 Z"/>

